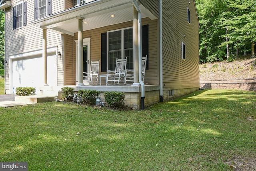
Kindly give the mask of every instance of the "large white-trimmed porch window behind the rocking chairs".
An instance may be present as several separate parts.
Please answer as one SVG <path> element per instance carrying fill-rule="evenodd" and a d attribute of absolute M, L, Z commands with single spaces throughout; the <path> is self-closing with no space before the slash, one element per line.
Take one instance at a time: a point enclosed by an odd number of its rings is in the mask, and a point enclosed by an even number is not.
<path fill-rule="evenodd" d="M 114 70 L 116 58 L 127 57 L 127 69 L 133 69 L 133 28 L 108 32 L 108 69 Z"/>

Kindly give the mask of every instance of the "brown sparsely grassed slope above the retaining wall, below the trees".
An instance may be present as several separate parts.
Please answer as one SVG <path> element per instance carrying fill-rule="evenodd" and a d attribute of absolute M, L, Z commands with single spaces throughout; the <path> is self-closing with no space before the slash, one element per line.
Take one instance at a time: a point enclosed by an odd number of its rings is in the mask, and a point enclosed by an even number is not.
<path fill-rule="evenodd" d="M 200 81 L 256 79 L 256 59 L 238 58 L 232 62 L 200 64 Z"/>

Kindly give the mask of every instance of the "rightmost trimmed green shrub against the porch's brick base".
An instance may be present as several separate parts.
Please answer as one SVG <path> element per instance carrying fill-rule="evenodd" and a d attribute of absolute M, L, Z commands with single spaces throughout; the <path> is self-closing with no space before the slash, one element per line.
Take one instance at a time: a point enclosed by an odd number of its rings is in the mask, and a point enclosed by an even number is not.
<path fill-rule="evenodd" d="M 116 91 L 104 92 L 104 97 L 105 97 L 105 101 L 111 107 L 124 106 L 125 94 L 123 92 L 116 92 Z"/>

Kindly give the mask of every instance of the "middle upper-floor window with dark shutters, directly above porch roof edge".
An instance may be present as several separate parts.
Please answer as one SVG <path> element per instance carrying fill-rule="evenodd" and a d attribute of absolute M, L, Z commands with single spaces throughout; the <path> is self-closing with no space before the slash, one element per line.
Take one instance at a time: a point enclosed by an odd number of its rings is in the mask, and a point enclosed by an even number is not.
<path fill-rule="evenodd" d="M 52 14 L 52 0 L 35 0 L 35 20 Z"/>

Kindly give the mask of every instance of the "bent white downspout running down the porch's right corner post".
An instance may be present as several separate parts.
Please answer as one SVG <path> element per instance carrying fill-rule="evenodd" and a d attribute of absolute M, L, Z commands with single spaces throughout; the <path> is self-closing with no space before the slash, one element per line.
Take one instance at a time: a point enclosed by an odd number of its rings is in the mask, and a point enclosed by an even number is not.
<path fill-rule="evenodd" d="M 142 23 L 141 23 L 141 11 L 140 11 L 140 7 L 138 6 L 136 0 L 131 0 L 132 1 L 132 4 L 133 6 L 135 7 L 135 9 L 137 10 L 138 12 L 138 37 L 139 37 L 139 40 L 138 40 L 138 52 L 139 52 L 139 61 L 138 61 L 138 64 L 139 64 L 139 82 L 140 82 L 140 85 L 141 85 L 141 99 L 140 99 L 140 109 L 144 109 L 144 99 L 145 99 L 145 84 L 144 82 L 142 81 L 142 73 L 141 73 L 141 60 L 142 60 L 142 33 L 141 33 L 141 26 L 142 26 Z"/>

